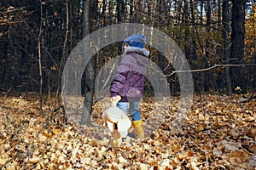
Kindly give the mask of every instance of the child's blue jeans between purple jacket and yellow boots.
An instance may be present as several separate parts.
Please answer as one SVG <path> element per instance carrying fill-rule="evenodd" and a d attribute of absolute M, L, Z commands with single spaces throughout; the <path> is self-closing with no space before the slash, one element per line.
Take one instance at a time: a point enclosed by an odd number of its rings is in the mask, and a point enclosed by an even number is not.
<path fill-rule="evenodd" d="M 141 120 L 140 112 L 138 111 L 138 102 L 118 102 L 117 107 L 127 114 L 128 107 L 129 113 L 132 117 L 132 121 Z"/>

